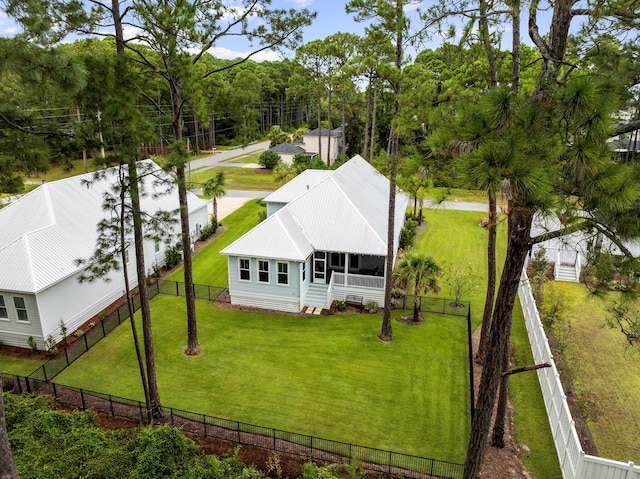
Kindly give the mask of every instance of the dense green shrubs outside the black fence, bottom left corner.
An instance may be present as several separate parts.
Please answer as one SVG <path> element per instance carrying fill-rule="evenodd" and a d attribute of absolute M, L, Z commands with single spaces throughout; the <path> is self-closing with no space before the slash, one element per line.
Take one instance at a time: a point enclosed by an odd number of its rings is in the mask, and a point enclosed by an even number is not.
<path fill-rule="evenodd" d="M 173 427 L 106 431 L 91 411 L 53 410 L 46 396 L 4 395 L 7 428 L 20 477 L 100 479 L 261 479 L 237 452 L 220 460 Z"/>

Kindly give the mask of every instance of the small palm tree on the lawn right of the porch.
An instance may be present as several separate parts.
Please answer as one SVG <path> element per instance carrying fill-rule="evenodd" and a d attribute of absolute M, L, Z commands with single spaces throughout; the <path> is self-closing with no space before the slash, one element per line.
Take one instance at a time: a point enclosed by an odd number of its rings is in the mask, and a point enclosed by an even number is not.
<path fill-rule="evenodd" d="M 440 266 L 436 264 L 431 256 L 419 253 L 415 250 L 408 250 L 396 266 L 394 276 L 409 287 L 413 285 L 413 322 L 420 321 L 420 290 L 437 289 L 439 287 Z"/>

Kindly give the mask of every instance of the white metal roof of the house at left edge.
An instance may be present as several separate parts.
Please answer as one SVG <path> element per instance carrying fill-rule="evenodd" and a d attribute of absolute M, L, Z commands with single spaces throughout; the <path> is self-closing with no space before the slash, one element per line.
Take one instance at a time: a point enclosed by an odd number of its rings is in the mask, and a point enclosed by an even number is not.
<path fill-rule="evenodd" d="M 176 210 L 177 190 L 154 194 L 165 189 L 155 184 L 158 178 L 171 177 L 152 161 L 145 163 L 157 173 L 145 176 L 141 208 L 150 214 Z M 97 224 L 110 215 L 102 208 L 103 195 L 111 192 L 117 171 L 109 168 L 96 181 L 89 173 L 45 183 L 0 210 L 0 290 L 36 293 L 83 269 L 75 260 L 93 255 Z M 208 204 L 191 193 L 188 202 L 190 212 Z"/>

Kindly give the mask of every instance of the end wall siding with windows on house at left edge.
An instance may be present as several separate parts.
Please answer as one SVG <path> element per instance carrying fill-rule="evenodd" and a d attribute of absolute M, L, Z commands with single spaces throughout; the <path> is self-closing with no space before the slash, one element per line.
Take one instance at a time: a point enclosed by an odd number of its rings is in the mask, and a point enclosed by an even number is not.
<path fill-rule="evenodd" d="M 29 336 L 32 336 L 38 348 L 44 349 L 40 314 L 35 296 L 33 294 L 9 293 L 6 291 L 0 291 L 0 294 L 4 296 L 7 315 L 9 316 L 9 319 L 0 319 L 0 337 L 3 344 L 28 348 Z M 18 321 L 18 314 L 13 303 L 14 296 L 24 298 L 29 321 Z"/>

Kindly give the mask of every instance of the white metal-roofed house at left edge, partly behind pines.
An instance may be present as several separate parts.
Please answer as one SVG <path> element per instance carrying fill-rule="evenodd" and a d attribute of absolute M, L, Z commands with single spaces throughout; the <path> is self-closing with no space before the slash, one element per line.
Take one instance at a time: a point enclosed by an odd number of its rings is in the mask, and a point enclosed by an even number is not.
<path fill-rule="evenodd" d="M 157 186 L 158 177 L 167 181 L 171 177 L 151 161 L 146 163 L 157 173 L 145 177 L 142 210 L 147 214 L 177 211 L 177 188 L 169 194 L 155 194 L 166 190 Z M 61 339 L 61 320 L 71 334 L 123 295 L 121 271 L 112 272 L 109 282 L 78 281 L 84 267 L 76 260 L 93 255 L 98 222 L 111 216 L 103 210 L 103 194 L 112 192 L 117 168 L 105 173 L 99 181 L 92 181 L 93 174 L 86 174 L 45 183 L 0 210 L 0 339 L 4 344 L 28 347 L 28 338 L 33 337 L 42 349 L 49 335 Z M 191 235 L 196 238 L 197 231 L 207 224 L 209 202 L 189 193 L 188 203 Z M 175 244 L 179 222 L 167 228 Z M 164 264 L 166 248 L 164 242 L 145 240 L 149 271 L 154 264 Z M 127 256 L 130 286 L 134 287 L 133 245 Z"/>

